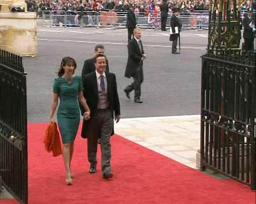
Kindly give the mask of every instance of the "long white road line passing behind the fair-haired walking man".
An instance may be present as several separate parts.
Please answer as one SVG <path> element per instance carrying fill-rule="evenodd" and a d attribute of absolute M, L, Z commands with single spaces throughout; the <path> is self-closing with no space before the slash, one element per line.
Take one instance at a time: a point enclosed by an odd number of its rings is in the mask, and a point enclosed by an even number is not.
<path fill-rule="evenodd" d="M 110 43 L 110 42 L 95 42 L 95 41 L 82 41 L 82 40 L 60 40 L 60 39 L 43 39 L 38 38 L 38 40 L 42 41 L 49 41 L 49 42 L 69 42 L 69 43 L 92 43 L 92 44 L 111 44 L 111 45 L 124 45 L 127 46 L 127 43 Z M 163 46 L 163 45 L 152 45 L 152 44 L 144 44 L 144 47 L 164 47 L 164 48 L 171 48 L 172 46 Z M 206 47 L 181 47 L 185 49 L 199 49 L 205 50 Z"/>

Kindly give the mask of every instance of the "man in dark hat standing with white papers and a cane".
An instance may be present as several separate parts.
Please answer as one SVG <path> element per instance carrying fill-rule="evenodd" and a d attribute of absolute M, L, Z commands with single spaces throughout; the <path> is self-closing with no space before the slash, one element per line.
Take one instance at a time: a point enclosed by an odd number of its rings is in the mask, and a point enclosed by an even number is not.
<path fill-rule="evenodd" d="M 172 29 L 172 32 L 174 35 L 174 40 L 173 40 L 173 43 L 172 43 L 172 53 L 173 54 L 180 54 L 180 52 L 177 52 L 177 42 L 178 42 L 178 38 L 180 38 L 180 31 L 181 31 L 181 21 L 179 19 L 179 16 L 180 15 L 180 10 L 175 7 L 173 9 L 173 15 L 172 15 L 172 18 L 171 18 L 171 21 L 170 21 L 170 29 Z M 175 32 L 175 27 L 178 27 L 178 33 Z M 176 33 L 176 34 L 174 34 Z"/>

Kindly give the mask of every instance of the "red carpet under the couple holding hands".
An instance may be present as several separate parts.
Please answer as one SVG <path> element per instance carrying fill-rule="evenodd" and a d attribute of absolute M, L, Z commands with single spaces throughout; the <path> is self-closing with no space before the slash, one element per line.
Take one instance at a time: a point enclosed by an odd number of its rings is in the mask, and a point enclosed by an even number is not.
<path fill-rule="evenodd" d="M 78 136 L 72 167 L 76 178 L 67 186 L 63 158 L 54 158 L 44 150 L 46 125 L 28 127 L 29 204 L 255 203 L 255 192 L 245 185 L 218 180 L 120 136 L 111 141 L 114 177 L 109 181 L 102 178 L 100 162 L 97 173 L 88 173 L 86 140 Z M 17 203 L 0 200 L 0 204 Z"/>

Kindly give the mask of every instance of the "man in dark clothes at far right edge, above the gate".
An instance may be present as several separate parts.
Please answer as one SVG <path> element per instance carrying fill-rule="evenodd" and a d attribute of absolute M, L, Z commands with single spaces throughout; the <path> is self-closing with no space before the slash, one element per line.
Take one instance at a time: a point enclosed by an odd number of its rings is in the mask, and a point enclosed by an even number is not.
<path fill-rule="evenodd" d="M 247 51 L 254 50 L 254 38 L 255 38 L 255 22 L 252 21 L 252 7 L 247 9 L 247 15 L 244 16 L 243 26 L 244 26 L 244 49 Z"/>

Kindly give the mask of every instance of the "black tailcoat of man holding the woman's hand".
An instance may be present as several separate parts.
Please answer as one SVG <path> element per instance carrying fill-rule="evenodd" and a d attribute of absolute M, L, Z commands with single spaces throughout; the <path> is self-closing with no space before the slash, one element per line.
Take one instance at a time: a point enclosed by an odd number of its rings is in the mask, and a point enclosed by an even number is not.
<path fill-rule="evenodd" d="M 116 85 L 116 75 L 110 72 L 106 73 L 107 85 L 108 85 L 108 100 L 110 110 L 112 112 L 112 118 L 114 119 L 114 115 L 120 115 L 120 103 L 117 94 L 117 85 Z M 91 118 L 93 118 L 95 111 L 98 107 L 98 85 L 97 85 L 97 78 L 96 73 L 91 72 L 87 75 L 84 75 L 82 78 L 83 82 L 83 95 L 86 98 L 87 105 L 91 111 Z M 84 113 L 84 109 L 80 106 L 82 114 Z M 82 127 L 82 134 L 83 138 L 86 138 L 86 129 L 87 129 L 87 121 L 83 120 L 83 127 Z M 114 123 L 113 123 L 114 124 Z M 114 134 L 114 128 L 111 135 Z"/>

